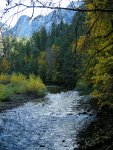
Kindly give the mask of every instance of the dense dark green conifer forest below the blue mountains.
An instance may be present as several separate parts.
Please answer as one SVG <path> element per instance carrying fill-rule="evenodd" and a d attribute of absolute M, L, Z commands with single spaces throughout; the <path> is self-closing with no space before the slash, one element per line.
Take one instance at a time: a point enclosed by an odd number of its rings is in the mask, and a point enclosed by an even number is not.
<path fill-rule="evenodd" d="M 74 23 L 77 17 L 78 13 L 70 25 L 63 21 L 59 24 L 53 23 L 49 32 L 42 27 L 30 39 L 19 39 L 11 35 L 4 37 L 4 56 L 0 58 L 0 72 L 21 72 L 26 75 L 33 73 L 45 82 L 75 86 L 77 75 L 73 43 L 82 34 L 83 27 L 81 19 L 76 37 Z"/>

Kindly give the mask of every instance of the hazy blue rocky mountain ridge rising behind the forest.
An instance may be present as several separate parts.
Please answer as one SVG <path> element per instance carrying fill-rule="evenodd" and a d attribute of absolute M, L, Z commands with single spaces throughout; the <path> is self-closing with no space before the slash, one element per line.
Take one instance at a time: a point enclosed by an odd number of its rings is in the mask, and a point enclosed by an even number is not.
<path fill-rule="evenodd" d="M 67 7 L 75 8 L 80 5 L 81 3 L 72 1 Z M 6 31 L 5 34 L 11 33 L 13 36 L 29 38 L 34 32 L 39 31 L 42 26 L 44 26 L 47 31 L 50 31 L 53 22 L 59 24 L 62 20 L 64 23 L 70 24 L 74 14 L 74 11 L 59 9 L 52 11 L 46 16 L 37 16 L 33 20 L 31 20 L 29 16 L 23 15 L 18 19 L 16 25 Z"/>

